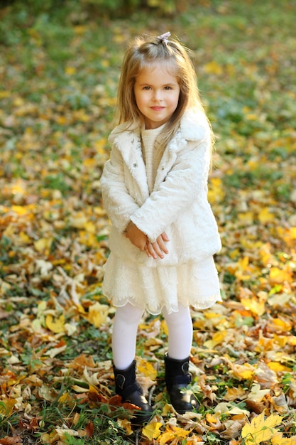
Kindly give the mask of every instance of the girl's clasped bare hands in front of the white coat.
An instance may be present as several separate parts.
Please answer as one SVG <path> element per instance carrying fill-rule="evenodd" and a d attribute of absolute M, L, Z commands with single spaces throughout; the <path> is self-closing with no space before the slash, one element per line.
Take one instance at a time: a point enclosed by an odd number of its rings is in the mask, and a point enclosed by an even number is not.
<path fill-rule="evenodd" d="M 148 257 L 153 257 L 154 259 L 164 258 L 165 254 L 168 254 L 165 243 L 168 242 L 169 239 L 165 232 L 159 235 L 155 242 L 150 242 L 147 235 L 130 221 L 126 227 L 126 237 L 134 246 L 138 247 L 142 252 L 146 252 Z"/>

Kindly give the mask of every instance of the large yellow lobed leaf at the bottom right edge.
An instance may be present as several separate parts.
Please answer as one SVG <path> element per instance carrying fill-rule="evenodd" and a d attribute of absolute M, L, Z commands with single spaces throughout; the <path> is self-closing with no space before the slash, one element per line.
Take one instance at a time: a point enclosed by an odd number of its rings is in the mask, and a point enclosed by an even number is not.
<path fill-rule="evenodd" d="M 264 419 L 264 411 L 257 417 L 254 417 L 251 424 L 246 424 L 241 430 L 241 436 L 245 439 L 245 445 L 258 445 L 263 441 L 268 441 L 275 434 L 277 425 L 283 422 L 283 418 L 270 414 Z"/>

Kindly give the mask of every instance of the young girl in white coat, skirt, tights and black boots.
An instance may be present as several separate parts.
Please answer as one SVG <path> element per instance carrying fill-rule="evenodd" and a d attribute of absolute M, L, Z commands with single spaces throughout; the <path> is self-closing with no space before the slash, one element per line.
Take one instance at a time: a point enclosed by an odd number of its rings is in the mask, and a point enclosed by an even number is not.
<path fill-rule="evenodd" d="M 136 381 L 136 335 L 143 311 L 168 324 L 165 383 L 179 413 L 197 409 L 188 385 L 190 306 L 221 301 L 213 254 L 216 221 L 207 201 L 212 131 L 188 50 L 170 33 L 136 38 L 124 58 L 119 126 L 109 136 L 102 194 L 111 220 L 103 292 L 116 306 L 112 350 L 116 393 L 152 407 Z"/>

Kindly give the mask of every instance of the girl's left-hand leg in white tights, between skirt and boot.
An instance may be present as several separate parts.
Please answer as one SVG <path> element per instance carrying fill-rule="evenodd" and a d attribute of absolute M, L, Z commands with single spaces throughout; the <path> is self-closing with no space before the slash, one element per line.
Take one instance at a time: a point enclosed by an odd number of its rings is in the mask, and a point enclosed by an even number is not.
<path fill-rule="evenodd" d="M 119 370 L 128 368 L 135 358 L 138 323 L 140 323 L 142 315 L 142 309 L 129 303 L 116 309 L 112 350 L 114 365 Z"/>

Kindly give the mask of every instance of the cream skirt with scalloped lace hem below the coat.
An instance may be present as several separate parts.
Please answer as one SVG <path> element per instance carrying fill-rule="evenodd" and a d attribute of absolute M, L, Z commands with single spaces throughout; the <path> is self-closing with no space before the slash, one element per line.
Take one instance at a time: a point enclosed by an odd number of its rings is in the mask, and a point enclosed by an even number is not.
<path fill-rule="evenodd" d="M 178 303 L 207 309 L 221 301 L 219 278 L 212 256 L 180 266 L 147 267 L 110 254 L 104 266 L 103 294 L 114 306 L 127 303 L 158 315 L 178 311 Z"/>

